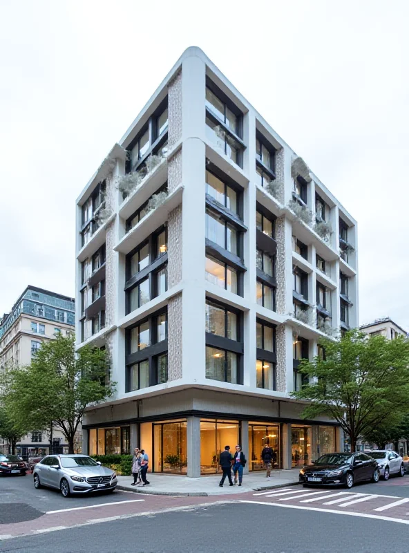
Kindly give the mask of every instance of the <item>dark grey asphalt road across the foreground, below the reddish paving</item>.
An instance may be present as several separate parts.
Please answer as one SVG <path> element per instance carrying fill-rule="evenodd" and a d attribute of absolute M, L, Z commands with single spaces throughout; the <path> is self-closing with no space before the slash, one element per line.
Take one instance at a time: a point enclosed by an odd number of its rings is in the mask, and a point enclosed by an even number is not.
<path fill-rule="evenodd" d="M 4 541 L 14 553 L 407 553 L 409 526 L 231 503 L 122 519 Z"/>

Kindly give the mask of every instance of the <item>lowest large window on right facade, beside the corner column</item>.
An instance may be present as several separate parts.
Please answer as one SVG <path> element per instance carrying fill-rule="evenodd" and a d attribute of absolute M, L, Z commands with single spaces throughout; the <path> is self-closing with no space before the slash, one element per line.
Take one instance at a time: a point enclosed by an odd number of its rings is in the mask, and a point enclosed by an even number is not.
<path fill-rule="evenodd" d="M 240 313 L 221 303 L 206 301 L 206 378 L 242 383 Z"/>

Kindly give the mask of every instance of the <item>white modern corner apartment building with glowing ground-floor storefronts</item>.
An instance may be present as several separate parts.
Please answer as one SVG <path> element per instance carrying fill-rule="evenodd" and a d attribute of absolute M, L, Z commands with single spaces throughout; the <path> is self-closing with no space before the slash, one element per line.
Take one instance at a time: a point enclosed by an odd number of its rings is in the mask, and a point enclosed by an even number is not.
<path fill-rule="evenodd" d="M 116 393 L 83 451 L 199 476 L 240 443 L 289 469 L 334 449 L 291 397 L 303 357 L 357 325 L 356 221 L 199 48 L 188 48 L 77 198 L 77 348 Z"/>

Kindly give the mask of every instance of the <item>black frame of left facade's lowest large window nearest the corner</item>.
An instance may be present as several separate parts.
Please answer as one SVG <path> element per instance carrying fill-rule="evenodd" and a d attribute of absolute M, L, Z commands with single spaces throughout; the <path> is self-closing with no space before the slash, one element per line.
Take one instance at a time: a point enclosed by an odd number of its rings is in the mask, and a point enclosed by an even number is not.
<path fill-rule="evenodd" d="M 166 314 L 166 339 L 158 342 L 158 317 Z M 131 332 L 133 328 L 140 327 L 142 324 L 148 322 L 149 325 L 149 346 L 142 350 L 137 350 L 131 353 Z M 125 330 L 125 390 L 126 393 L 134 391 L 131 390 L 132 383 L 132 367 L 137 363 L 148 361 L 149 363 L 149 387 L 156 386 L 158 384 L 158 357 L 168 353 L 168 310 L 167 306 L 154 313 L 151 313 L 147 317 L 140 319 L 135 324 L 129 326 Z M 163 383 L 162 383 L 163 384 Z M 144 388 L 138 388 L 144 389 Z"/>

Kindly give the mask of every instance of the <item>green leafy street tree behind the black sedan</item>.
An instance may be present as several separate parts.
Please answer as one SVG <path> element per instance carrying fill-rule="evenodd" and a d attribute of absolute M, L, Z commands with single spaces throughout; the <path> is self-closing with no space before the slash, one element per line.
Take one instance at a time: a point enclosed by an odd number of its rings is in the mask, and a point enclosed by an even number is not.
<path fill-rule="evenodd" d="M 326 415 L 338 421 L 355 451 L 359 436 L 380 427 L 391 413 L 408 411 L 409 341 L 350 330 L 322 345 L 324 359 L 303 359 L 298 367 L 310 384 L 292 395 L 309 402 L 303 418 Z"/>

